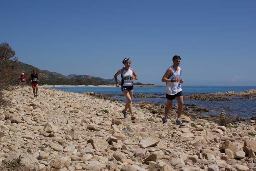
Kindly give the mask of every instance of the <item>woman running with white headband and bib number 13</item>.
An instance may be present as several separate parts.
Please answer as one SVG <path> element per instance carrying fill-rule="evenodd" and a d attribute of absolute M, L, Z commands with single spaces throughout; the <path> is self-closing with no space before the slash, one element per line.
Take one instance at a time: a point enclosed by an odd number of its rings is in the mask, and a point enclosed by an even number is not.
<path fill-rule="evenodd" d="M 125 58 L 123 60 L 123 64 L 125 67 L 117 71 L 117 73 L 115 74 L 116 87 L 120 87 L 117 82 L 117 75 L 121 74 L 121 77 L 122 77 L 121 90 L 127 100 L 122 113 L 124 114 L 124 118 L 128 118 L 126 110 L 129 109 L 132 116 L 132 120 L 134 120 L 136 118 L 135 116 L 133 116 L 133 109 L 132 109 L 132 95 L 133 95 L 132 79 L 138 80 L 138 77 L 134 69 L 130 68 L 130 65 L 131 65 L 130 58 Z"/>

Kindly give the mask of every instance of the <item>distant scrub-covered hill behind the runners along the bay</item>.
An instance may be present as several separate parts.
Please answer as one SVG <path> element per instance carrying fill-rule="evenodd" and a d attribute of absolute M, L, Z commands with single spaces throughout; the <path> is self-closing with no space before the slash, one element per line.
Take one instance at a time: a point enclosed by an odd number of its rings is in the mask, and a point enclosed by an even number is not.
<path fill-rule="evenodd" d="M 50 72 L 48 70 L 40 70 L 39 68 L 25 64 L 18 61 L 18 66 L 20 67 L 21 72 L 26 75 L 27 84 L 30 83 L 29 76 L 32 74 L 32 70 L 36 69 L 36 73 L 39 74 L 39 84 L 49 84 L 49 85 L 108 85 L 115 83 L 115 79 L 103 79 L 100 77 L 94 77 L 90 75 L 76 75 L 69 74 L 68 76 Z M 21 74 L 21 73 L 20 73 Z M 117 80 L 118 83 L 121 83 L 120 80 Z"/>

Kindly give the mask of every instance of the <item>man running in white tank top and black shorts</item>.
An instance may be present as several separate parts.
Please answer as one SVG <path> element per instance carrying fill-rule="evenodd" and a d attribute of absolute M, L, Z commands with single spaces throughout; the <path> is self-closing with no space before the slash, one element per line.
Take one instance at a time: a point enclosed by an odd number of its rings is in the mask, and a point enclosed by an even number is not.
<path fill-rule="evenodd" d="M 183 95 L 181 91 L 180 83 L 184 81 L 180 79 L 180 74 L 182 69 L 180 65 L 180 56 L 175 55 L 172 58 L 173 66 L 169 67 L 165 72 L 162 82 L 166 82 L 165 95 L 167 98 L 167 106 L 164 109 L 164 117 L 162 118 L 163 124 L 167 123 L 167 115 L 172 107 L 172 101 L 174 98 L 178 101 L 178 119 L 175 122 L 175 125 L 184 126 L 184 123 L 180 120 L 181 113 L 183 110 Z"/>

